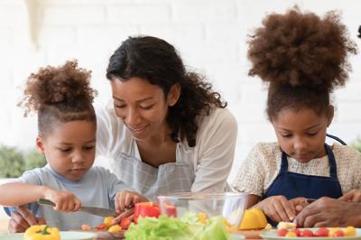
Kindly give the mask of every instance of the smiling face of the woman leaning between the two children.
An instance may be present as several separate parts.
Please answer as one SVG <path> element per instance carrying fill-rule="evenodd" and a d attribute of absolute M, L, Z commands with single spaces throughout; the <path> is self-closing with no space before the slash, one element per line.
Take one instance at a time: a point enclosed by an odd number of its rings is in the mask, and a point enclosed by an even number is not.
<path fill-rule="evenodd" d="M 166 122 L 168 107 L 177 103 L 180 88 L 175 85 L 167 97 L 157 85 L 142 78 L 111 81 L 116 115 L 137 141 L 150 140 L 160 134 L 170 134 Z"/>

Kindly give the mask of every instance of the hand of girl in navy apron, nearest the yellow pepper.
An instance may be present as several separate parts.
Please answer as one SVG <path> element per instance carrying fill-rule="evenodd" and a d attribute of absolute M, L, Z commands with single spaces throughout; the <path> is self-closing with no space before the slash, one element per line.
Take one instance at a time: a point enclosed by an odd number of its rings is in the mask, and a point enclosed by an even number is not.
<path fill-rule="evenodd" d="M 284 196 L 273 196 L 265 198 L 255 205 L 255 208 L 261 208 L 267 217 L 273 222 L 290 222 L 296 217 L 296 210 L 292 201 Z"/>

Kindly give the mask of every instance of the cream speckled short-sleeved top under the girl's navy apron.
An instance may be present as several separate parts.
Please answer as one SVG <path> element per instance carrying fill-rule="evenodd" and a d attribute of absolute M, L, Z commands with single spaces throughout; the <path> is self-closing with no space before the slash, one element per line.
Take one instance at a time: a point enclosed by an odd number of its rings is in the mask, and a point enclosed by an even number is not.
<path fill-rule="evenodd" d="M 334 143 L 338 181 L 343 193 L 361 189 L 361 152 Z M 240 192 L 263 196 L 281 170 L 282 151 L 278 143 L 258 143 L 242 163 L 232 187 Z M 288 170 L 301 174 L 329 177 L 327 155 L 302 163 L 288 157 Z"/>

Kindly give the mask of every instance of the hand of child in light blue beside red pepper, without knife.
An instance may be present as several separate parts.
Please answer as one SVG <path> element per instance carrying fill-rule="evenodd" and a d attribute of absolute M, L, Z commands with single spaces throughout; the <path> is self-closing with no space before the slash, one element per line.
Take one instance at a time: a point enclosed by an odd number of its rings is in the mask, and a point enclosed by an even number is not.
<path fill-rule="evenodd" d="M 116 193 L 116 212 L 121 214 L 125 209 L 133 208 L 137 202 L 146 202 L 147 198 L 134 191 L 119 191 Z"/>

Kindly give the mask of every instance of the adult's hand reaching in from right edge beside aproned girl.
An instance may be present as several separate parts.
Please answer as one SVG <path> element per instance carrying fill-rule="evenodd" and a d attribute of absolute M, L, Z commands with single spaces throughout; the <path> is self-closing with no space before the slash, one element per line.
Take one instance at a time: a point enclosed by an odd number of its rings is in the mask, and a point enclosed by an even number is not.
<path fill-rule="evenodd" d="M 361 226 L 361 203 L 319 198 L 296 217 L 297 226 Z"/>

